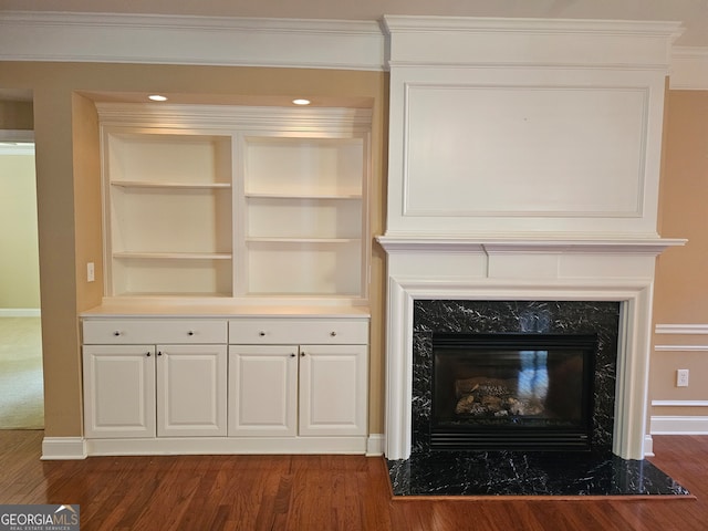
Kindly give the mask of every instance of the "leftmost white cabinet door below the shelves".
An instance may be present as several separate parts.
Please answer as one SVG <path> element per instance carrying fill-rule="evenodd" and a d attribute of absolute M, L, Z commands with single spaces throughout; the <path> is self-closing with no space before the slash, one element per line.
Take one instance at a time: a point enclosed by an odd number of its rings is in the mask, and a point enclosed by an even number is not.
<path fill-rule="evenodd" d="M 155 437 L 155 347 L 83 347 L 87 438 Z"/>

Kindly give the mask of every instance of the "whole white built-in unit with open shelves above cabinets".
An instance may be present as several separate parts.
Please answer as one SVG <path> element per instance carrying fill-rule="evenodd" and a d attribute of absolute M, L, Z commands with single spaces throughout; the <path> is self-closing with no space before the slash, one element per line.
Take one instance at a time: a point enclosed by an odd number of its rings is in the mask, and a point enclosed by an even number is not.
<path fill-rule="evenodd" d="M 97 110 L 85 452 L 366 451 L 371 110 Z"/>

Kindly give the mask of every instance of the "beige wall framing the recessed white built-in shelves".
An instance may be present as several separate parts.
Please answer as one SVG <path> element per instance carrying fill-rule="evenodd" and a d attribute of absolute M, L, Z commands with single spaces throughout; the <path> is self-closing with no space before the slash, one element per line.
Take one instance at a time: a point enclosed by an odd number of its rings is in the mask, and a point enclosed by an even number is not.
<path fill-rule="evenodd" d="M 77 314 L 101 302 L 103 283 L 97 119 L 93 100 L 107 93 L 171 92 L 220 97 L 302 95 L 371 101 L 374 111 L 372 236 L 383 232 L 386 74 L 177 65 L 0 63 L 0 87 L 34 94 L 39 247 L 43 321 L 45 435 L 82 434 Z M 96 282 L 85 281 L 86 262 Z M 383 431 L 383 274 L 372 268 L 372 433 Z"/>

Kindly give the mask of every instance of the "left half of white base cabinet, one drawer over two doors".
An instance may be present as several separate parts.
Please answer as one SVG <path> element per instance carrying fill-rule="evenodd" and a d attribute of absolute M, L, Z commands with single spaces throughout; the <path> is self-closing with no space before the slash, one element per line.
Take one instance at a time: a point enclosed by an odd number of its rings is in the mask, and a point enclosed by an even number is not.
<path fill-rule="evenodd" d="M 226 435 L 226 322 L 87 321 L 83 362 L 87 438 Z"/>

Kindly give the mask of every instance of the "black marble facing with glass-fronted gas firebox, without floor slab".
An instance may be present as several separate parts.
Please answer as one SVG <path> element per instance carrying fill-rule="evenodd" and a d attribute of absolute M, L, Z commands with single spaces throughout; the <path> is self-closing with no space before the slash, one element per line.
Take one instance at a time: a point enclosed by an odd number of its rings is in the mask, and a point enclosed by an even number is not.
<path fill-rule="evenodd" d="M 611 452 L 621 308 L 415 301 L 413 451 Z"/>

